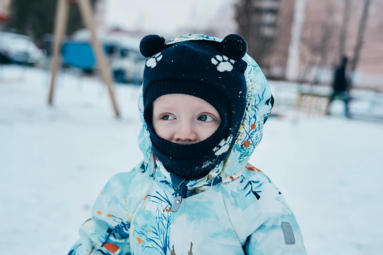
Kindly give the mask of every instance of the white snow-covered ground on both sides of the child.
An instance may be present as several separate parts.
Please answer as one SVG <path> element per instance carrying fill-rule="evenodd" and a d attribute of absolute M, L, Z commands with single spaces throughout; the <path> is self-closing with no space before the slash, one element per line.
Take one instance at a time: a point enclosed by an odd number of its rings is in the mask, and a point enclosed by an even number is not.
<path fill-rule="evenodd" d="M 67 254 L 109 177 L 141 158 L 138 87 L 115 88 L 117 120 L 97 79 L 61 74 L 53 107 L 48 82 L 46 71 L 0 67 L 1 255 Z M 250 163 L 286 197 L 308 254 L 382 255 L 383 125 L 283 115 Z"/>

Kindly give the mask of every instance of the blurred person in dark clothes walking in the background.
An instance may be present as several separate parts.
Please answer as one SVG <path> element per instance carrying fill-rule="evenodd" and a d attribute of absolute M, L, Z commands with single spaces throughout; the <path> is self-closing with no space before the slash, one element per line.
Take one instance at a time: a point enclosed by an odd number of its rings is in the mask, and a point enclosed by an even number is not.
<path fill-rule="evenodd" d="M 330 96 L 329 102 L 326 106 L 326 115 L 330 114 L 330 105 L 336 97 L 342 98 L 344 101 L 344 112 L 347 118 L 350 118 L 350 112 L 348 110 L 349 90 L 350 83 L 347 78 L 347 57 L 343 56 L 340 65 L 335 70 L 335 76 L 333 81 L 333 93 Z"/>

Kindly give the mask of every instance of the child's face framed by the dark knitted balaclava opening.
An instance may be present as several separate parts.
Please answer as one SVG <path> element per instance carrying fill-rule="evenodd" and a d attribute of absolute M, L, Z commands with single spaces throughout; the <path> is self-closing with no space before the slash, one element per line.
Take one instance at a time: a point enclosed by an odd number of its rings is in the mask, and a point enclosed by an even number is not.
<path fill-rule="evenodd" d="M 211 136 L 221 124 L 218 111 L 201 98 L 168 94 L 153 102 L 157 135 L 178 144 L 194 144 Z"/>

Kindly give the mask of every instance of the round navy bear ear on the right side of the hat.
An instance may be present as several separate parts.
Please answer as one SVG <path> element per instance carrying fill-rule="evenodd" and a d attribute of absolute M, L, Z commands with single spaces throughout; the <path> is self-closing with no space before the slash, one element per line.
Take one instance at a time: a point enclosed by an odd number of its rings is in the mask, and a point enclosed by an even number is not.
<path fill-rule="evenodd" d="M 248 51 L 245 39 L 237 34 L 227 35 L 221 42 L 221 51 L 233 60 L 241 60 Z"/>

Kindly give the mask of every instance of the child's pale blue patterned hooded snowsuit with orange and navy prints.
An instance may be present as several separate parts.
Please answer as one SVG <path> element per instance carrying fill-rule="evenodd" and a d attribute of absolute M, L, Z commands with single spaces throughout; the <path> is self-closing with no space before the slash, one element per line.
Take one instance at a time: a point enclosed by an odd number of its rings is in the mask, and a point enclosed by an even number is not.
<path fill-rule="evenodd" d="M 221 41 L 189 35 L 168 43 L 184 40 Z M 243 60 L 248 63 L 247 108 L 235 144 L 227 148 L 226 160 L 200 180 L 172 183 L 156 160 L 140 93 L 143 125 L 138 143 L 143 161 L 109 180 L 69 255 L 306 254 L 285 199 L 262 171 L 248 164 L 270 114 L 271 91 L 255 61 L 248 55 Z M 187 192 L 180 203 L 176 202 L 176 189 Z M 177 212 L 170 210 L 178 206 Z"/>

